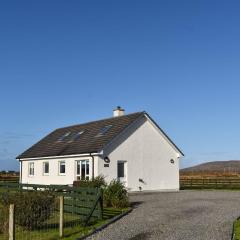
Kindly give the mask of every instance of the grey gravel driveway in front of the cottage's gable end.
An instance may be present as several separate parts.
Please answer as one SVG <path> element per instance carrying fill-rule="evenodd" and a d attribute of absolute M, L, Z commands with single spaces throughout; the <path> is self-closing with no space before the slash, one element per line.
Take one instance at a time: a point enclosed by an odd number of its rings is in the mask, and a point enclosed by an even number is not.
<path fill-rule="evenodd" d="M 230 240 L 240 192 L 181 191 L 131 196 L 134 210 L 90 239 Z"/>

